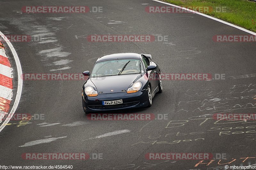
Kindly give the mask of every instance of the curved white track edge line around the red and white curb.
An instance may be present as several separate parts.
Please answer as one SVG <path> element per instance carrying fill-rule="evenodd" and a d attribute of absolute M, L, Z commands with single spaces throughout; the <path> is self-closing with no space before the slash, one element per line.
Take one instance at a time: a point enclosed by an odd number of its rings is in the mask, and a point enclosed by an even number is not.
<path fill-rule="evenodd" d="M 0 126 L 0 132 L 1 132 L 4 129 L 5 125 L 8 124 L 8 122 L 11 120 L 13 114 L 15 113 L 15 111 L 19 105 L 21 92 L 22 92 L 23 80 L 22 80 L 22 70 L 21 70 L 20 60 L 19 60 L 19 57 L 18 57 L 14 47 L 12 46 L 12 43 L 9 41 L 9 39 L 7 39 L 4 36 L 4 34 L 1 31 L 0 31 L 0 35 L 5 40 L 5 42 L 7 43 L 7 45 L 9 46 L 9 48 L 12 51 L 12 55 L 14 57 L 16 67 L 17 67 L 17 72 L 18 72 L 18 88 L 17 88 L 16 98 L 13 103 L 12 110 L 10 111 L 8 117 L 4 120 L 4 123 Z"/>

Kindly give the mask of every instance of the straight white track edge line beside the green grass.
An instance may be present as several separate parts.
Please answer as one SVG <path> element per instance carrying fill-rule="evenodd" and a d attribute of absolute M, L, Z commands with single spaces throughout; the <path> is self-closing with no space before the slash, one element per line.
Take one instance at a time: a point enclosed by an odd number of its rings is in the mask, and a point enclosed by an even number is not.
<path fill-rule="evenodd" d="M 240 26 L 237 26 L 237 25 L 234 25 L 234 24 L 230 24 L 230 23 L 228 23 L 228 22 L 226 22 L 226 21 L 222 21 L 221 19 L 214 18 L 214 17 L 211 17 L 211 16 L 209 16 L 209 15 L 206 15 L 206 14 L 203 14 L 203 13 L 200 13 L 200 12 L 197 12 L 197 11 L 190 10 L 190 9 L 188 9 L 188 8 L 184 8 L 184 7 L 181 7 L 181 6 L 177 6 L 177 5 L 174 5 L 174 4 L 170 4 L 170 3 L 163 2 L 163 1 L 158 1 L 158 0 L 152 0 L 152 1 L 156 1 L 156 2 L 159 2 L 159 3 L 162 3 L 162 4 L 171 5 L 171 6 L 175 6 L 175 7 L 177 7 L 177 8 L 181 8 L 181 9 L 184 9 L 184 10 L 187 10 L 187 11 L 191 11 L 191 12 L 194 12 L 194 13 L 196 13 L 196 14 L 202 15 L 202 16 L 204 16 L 204 17 L 213 19 L 213 20 L 215 20 L 215 21 L 219 21 L 219 22 L 221 22 L 221 23 L 223 23 L 223 24 L 226 24 L 226 25 L 235 27 L 235 28 L 237 28 L 237 29 L 239 29 L 239 30 L 242 30 L 242 31 L 244 31 L 244 32 L 248 32 L 248 33 L 250 33 L 250 34 L 252 34 L 252 35 L 256 35 L 255 32 L 246 30 L 245 28 L 242 28 L 242 27 L 240 27 Z"/>

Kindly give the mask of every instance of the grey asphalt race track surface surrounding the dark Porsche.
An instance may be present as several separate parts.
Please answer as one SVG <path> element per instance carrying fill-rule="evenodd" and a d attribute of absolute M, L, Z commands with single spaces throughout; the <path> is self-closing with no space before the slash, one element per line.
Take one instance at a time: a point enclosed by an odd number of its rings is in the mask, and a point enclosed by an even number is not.
<path fill-rule="evenodd" d="M 102 7 L 102 12 L 22 13 L 23 6 Z M 88 120 L 81 101 L 84 80 L 23 80 L 15 113 L 43 117 L 22 126 L 11 120 L 4 127 L 0 132 L 1 165 L 189 170 L 256 163 L 256 120 L 217 121 L 212 116 L 255 113 L 255 42 L 212 39 L 215 35 L 250 34 L 195 13 L 148 13 L 147 6 L 166 5 L 151 0 L 0 0 L 0 31 L 4 35 L 41 37 L 38 41 L 12 42 L 23 74 L 82 73 L 91 71 L 103 55 L 137 52 L 151 54 L 162 73 L 208 73 L 212 78 L 225 75 L 222 80 L 164 80 L 163 93 L 154 97 L 150 108 L 102 112 L 159 117 L 150 121 Z M 156 41 L 88 41 L 94 34 L 153 35 Z M 167 41 L 157 41 L 164 36 Z M 13 67 L 14 100 L 17 68 L 11 51 L 6 50 Z M 168 118 L 160 120 L 164 114 Z M 170 152 L 212 153 L 214 157 L 218 153 L 226 160 L 222 157 L 220 162 L 196 166 L 200 160 L 148 160 L 145 156 Z M 88 153 L 91 159 L 27 160 L 22 157 L 24 153 Z M 102 159 L 92 159 L 95 155 Z"/>

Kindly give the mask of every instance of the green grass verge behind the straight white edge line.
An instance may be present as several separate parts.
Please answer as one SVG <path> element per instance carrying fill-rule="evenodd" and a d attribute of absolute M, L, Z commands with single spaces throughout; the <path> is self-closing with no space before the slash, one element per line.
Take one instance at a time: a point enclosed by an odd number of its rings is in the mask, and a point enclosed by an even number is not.
<path fill-rule="evenodd" d="M 204 13 L 215 18 L 256 32 L 256 2 L 248 0 L 162 0 L 171 4 L 188 6 L 211 6 L 213 11 Z M 226 12 L 216 12 L 215 7 L 226 7 Z M 252 22 L 253 20 L 253 22 Z"/>

